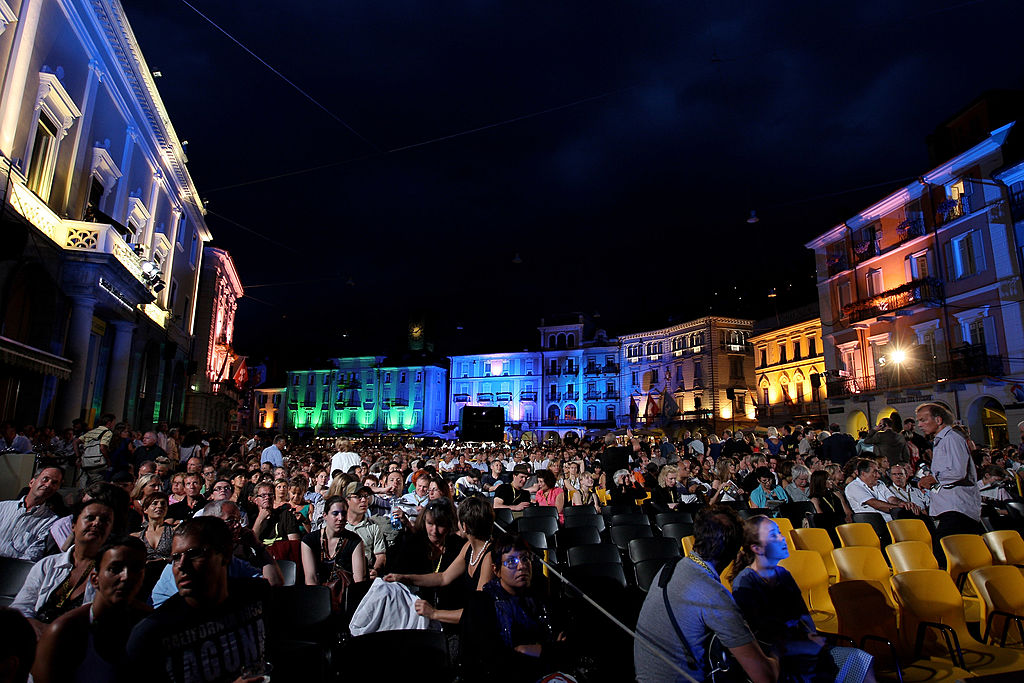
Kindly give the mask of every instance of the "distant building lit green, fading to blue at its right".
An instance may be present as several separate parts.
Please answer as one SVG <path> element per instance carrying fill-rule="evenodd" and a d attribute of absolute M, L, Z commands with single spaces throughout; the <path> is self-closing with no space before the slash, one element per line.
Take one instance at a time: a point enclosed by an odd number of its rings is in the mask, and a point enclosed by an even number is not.
<path fill-rule="evenodd" d="M 290 371 L 287 427 L 439 431 L 446 415 L 447 370 L 396 360 L 400 358 L 334 358 L 330 370 Z"/>

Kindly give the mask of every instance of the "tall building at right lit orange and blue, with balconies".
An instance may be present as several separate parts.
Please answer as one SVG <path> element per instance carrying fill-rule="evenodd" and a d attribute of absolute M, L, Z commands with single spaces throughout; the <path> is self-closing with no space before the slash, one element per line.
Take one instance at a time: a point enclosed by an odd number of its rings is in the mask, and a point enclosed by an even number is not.
<path fill-rule="evenodd" d="M 1019 135 L 993 130 L 807 245 L 829 418 L 845 430 L 932 400 L 978 443 L 1017 438 L 1007 425 L 1024 418 Z"/>

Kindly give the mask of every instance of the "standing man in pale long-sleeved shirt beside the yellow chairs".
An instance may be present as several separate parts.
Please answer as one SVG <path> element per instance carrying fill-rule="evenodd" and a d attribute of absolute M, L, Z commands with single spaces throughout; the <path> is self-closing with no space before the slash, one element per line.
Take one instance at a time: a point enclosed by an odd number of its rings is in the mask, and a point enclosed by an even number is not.
<path fill-rule="evenodd" d="M 981 492 L 978 472 L 967 440 L 952 429 L 953 416 L 945 405 L 923 403 L 918 426 L 932 439 L 932 473 L 918 485 L 932 490 L 928 514 L 936 520 L 938 538 L 952 533 L 981 533 Z"/>

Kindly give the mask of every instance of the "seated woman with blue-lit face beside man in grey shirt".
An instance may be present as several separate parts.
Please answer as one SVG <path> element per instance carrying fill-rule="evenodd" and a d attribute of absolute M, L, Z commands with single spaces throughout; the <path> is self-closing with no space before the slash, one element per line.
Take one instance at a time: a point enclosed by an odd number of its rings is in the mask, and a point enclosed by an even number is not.
<path fill-rule="evenodd" d="M 732 597 L 754 636 L 778 654 L 782 681 L 873 681 L 871 656 L 852 647 L 828 647 L 807 611 L 800 587 L 778 565 L 790 556 L 785 537 L 764 515 L 743 524 L 743 546 L 733 564 Z"/>

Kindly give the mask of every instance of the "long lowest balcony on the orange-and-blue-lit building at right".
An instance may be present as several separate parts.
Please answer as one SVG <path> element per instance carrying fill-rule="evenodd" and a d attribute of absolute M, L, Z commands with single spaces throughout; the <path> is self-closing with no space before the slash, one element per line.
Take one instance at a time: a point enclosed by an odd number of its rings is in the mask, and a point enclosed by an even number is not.
<path fill-rule="evenodd" d="M 971 346 L 950 349 L 949 360 L 922 362 L 908 360 L 879 369 L 873 376 L 844 377 L 826 384 L 828 397 L 850 396 L 865 391 L 886 391 L 938 382 L 966 381 L 1008 374 L 1007 358 L 988 355 Z"/>

